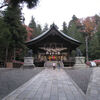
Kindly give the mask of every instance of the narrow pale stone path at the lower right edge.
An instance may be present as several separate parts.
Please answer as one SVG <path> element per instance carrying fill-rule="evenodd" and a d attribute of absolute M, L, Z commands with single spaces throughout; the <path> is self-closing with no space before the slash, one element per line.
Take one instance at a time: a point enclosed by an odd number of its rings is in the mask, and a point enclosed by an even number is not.
<path fill-rule="evenodd" d="M 100 100 L 100 67 L 93 69 L 86 97 L 88 100 Z"/>

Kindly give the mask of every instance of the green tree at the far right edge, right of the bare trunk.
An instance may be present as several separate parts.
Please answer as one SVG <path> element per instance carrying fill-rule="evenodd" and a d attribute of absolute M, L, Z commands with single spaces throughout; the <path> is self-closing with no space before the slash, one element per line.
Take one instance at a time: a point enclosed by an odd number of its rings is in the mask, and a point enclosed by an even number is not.
<path fill-rule="evenodd" d="M 89 41 L 89 58 L 90 60 L 100 59 L 100 16 L 95 15 L 95 33 Z"/>

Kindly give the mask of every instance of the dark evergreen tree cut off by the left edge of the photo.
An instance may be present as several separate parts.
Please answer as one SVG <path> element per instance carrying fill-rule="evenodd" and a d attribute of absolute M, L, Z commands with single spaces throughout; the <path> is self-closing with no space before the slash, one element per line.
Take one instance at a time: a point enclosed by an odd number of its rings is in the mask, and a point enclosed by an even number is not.
<path fill-rule="evenodd" d="M 3 18 L 0 18 L 0 60 L 7 61 L 10 42 L 11 34 L 9 28 L 3 21 Z"/>

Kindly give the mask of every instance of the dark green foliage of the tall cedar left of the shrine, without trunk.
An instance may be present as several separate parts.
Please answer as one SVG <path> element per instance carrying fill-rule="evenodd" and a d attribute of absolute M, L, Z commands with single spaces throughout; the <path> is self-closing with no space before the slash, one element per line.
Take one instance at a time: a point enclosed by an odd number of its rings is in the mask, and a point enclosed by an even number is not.
<path fill-rule="evenodd" d="M 10 44 L 10 46 L 21 47 L 25 41 L 26 30 L 21 22 L 22 16 L 20 7 L 8 7 L 5 11 L 4 21 L 11 33 L 12 43 Z"/>

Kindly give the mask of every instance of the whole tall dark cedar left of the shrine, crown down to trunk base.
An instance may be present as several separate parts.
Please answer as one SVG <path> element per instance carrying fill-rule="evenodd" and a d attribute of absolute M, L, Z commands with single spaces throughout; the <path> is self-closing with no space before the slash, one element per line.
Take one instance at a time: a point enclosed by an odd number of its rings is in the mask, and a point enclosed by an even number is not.
<path fill-rule="evenodd" d="M 16 51 L 25 48 L 26 29 L 22 25 L 22 15 L 20 6 L 8 6 L 4 14 L 4 21 L 9 28 L 11 34 L 11 42 L 9 44 L 9 59 L 16 57 Z M 19 54 L 21 54 L 19 52 Z"/>

